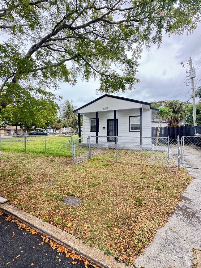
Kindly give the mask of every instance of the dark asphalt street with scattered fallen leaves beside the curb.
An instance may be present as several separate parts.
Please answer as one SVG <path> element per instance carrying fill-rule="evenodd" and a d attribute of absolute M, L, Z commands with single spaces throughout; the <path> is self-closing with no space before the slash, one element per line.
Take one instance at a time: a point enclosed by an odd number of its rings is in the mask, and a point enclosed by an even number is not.
<path fill-rule="evenodd" d="M 5 220 L 5 214 L 0 215 L 0 268 L 84 268 L 83 262 L 66 257 L 42 242 L 40 235 L 32 235 L 26 230 L 21 230 L 15 223 Z M 15 235 L 14 235 L 14 233 Z M 60 261 L 59 261 L 60 260 Z M 79 264 L 80 263 L 80 264 Z M 88 268 L 93 266 L 88 265 Z"/>

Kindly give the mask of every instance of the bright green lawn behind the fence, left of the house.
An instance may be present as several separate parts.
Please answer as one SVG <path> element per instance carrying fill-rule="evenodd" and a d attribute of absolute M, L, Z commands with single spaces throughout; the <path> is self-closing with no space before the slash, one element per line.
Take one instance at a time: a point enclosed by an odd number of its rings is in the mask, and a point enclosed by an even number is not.
<path fill-rule="evenodd" d="M 73 139 L 75 138 L 78 138 L 78 136 L 73 136 Z M 28 136 L 26 137 L 26 151 L 30 153 L 71 157 L 70 141 L 71 137 L 67 136 Z M 24 137 L 2 138 L 1 145 L 1 150 L 25 151 Z"/>

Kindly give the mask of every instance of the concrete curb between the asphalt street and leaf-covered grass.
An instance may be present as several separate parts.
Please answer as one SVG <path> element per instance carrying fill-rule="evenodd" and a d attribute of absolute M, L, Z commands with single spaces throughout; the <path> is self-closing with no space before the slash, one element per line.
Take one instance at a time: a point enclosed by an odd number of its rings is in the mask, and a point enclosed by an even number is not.
<path fill-rule="evenodd" d="M 29 227 L 34 228 L 36 231 L 43 235 L 48 236 L 51 240 L 66 247 L 67 249 L 75 251 L 80 256 L 86 258 L 92 264 L 101 268 L 128 268 L 124 263 L 117 262 L 114 257 L 109 256 L 92 246 L 84 245 L 83 241 L 75 236 L 52 226 L 49 223 L 28 214 L 15 206 L 9 204 L 1 204 L 0 210 L 6 214 L 14 217 L 22 223 L 27 224 Z"/>

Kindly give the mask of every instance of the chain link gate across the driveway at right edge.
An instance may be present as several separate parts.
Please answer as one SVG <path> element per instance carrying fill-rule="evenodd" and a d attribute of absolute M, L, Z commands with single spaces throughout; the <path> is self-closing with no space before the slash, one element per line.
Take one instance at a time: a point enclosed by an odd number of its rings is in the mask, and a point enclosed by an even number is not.
<path fill-rule="evenodd" d="M 201 169 L 201 135 L 182 136 L 181 161 L 184 168 Z"/>

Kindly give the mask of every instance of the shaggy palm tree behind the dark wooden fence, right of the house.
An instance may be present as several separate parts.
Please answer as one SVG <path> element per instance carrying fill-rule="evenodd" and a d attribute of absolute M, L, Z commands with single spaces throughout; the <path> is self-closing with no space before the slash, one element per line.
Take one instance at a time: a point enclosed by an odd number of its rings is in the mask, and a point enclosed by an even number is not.
<path fill-rule="evenodd" d="M 165 100 L 164 107 L 172 109 L 172 115 L 167 116 L 169 126 L 178 125 L 178 123 L 185 118 L 185 105 L 181 100 Z"/>

